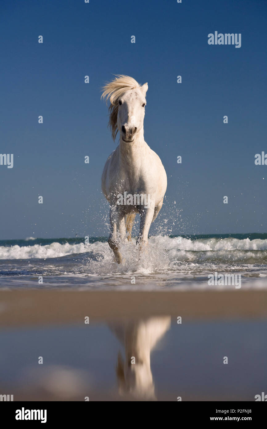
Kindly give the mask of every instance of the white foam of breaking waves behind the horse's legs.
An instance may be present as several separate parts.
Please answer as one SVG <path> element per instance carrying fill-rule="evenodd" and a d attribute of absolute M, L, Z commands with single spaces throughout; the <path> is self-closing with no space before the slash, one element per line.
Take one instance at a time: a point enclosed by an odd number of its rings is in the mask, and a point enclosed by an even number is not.
<path fill-rule="evenodd" d="M 32 237 L 28 237 L 28 239 L 30 240 Z M 131 246 L 127 243 L 127 245 L 123 245 L 123 248 L 127 253 L 127 257 L 130 256 L 130 251 L 133 260 L 136 260 L 138 255 L 135 252 L 134 243 Z M 246 260 L 249 260 L 249 258 L 256 260 L 259 257 L 259 255 L 247 251 L 259 251 L 260 253 L 260 251 L 267 250 L 267 239 L 238 240 L 234 238 L 212 238 L 191 240 L 183 237 L 153 236 L 149 240 L 148 248 L 149 253 L 151 252 L 151 255 L 155 258 L 156 264 L 161 263 L 162 258 L 168 263 L 173 263 L 173 261 L 201 262 L 216 258 L 229 258 L 231 262 L 244 260 L 244 263 L 246 263 Z M 53 242 L 49 245 L 0 246 L 0 259 L 47 259 L 85 252 L 93 253 L 98 260 L 103 257 L 112 261 L 111 252 L 106 242 L 94 242 L 87 245 L 83 242 L 78 244 Z"/>

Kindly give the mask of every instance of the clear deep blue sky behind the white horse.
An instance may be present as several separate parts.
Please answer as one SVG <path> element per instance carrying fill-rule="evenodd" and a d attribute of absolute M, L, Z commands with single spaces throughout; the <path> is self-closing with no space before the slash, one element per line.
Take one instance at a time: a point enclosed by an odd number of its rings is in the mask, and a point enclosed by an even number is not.
<path fill-rule="evenodd" d="M 148 82 L 145 140 L 168 177 L 151 233 L 267 231 L 266 1 L 2 0 L 0 21 L 0 239 L 108 234 L 100 88 L 116 73 Z M 208 45 L 215 31 L 241 47 Z"/>

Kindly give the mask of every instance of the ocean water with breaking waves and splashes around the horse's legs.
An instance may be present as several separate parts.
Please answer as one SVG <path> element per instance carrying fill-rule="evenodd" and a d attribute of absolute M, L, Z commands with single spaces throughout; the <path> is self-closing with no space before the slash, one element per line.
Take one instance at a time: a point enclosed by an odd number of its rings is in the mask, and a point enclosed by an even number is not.
<path fill-rule="evenodd" d="M 117 265 L 106 237 L 2 240 L 0 288 L 233 289 L 238 275 L 242 288 L 267 288 L 267 233 L 151 236 L 145 254 L 134 240 L 122 254 Z"/>

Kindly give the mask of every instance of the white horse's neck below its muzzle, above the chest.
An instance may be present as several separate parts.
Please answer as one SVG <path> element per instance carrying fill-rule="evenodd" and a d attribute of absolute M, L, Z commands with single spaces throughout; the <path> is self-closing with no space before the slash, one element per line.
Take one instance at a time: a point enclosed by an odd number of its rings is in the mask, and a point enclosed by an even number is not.
<path fill-rule="evenodd" d="M 134 166 L 142 157 L 142 152 L 146 146 L 144 141 L 144 130 L 142 129 L 132 143 L 125 143 L 120 136 L 120 163 L 126 166 Z"/>

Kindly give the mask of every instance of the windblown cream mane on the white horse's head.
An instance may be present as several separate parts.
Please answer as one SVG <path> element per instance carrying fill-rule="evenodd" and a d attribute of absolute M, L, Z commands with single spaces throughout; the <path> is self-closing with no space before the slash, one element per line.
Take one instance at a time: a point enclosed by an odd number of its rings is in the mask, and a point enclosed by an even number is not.
<path fill-rule="evenodd" d="M 117 115 L 119 109 L 119 98 L 129 89 L 140 88 L 138 82 L 130 76 L 125 75 L 115 75 L 117 76 L 113 81 L 107 82 L 103 86 L 103 94 L 101 100 L 105 100 L 108 104 L 108 99 L 110 100 L 109 111 L 109 122 L 108 126 L 111 129 L 112 138 L 115 141 L 117 136 L 118 127 L 117 127 Z"/>

